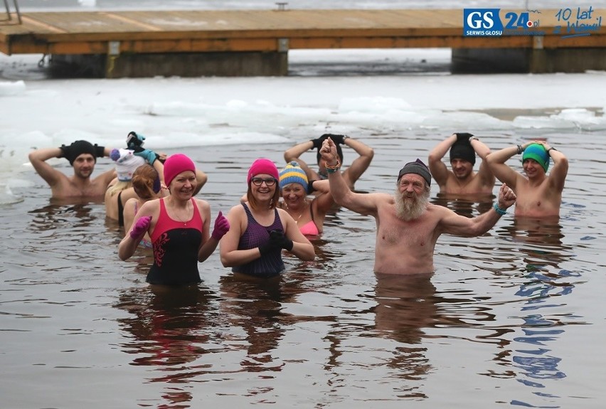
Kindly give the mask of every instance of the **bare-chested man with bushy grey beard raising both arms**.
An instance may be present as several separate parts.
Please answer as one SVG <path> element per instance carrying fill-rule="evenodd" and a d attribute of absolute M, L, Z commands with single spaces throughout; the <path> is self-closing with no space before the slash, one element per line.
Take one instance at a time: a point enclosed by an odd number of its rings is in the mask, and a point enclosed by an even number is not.
<path fill-rule="evenodd" d="M 324 141 L 320 153 L 326 161 L 330 191 L 336 203 L 376 220 L 376 273 L 432 274 L 435 243 L 442 233 L 462 237 L 483 235 L 516 202 L 514 191 L 503 184 L 494 207 L 474 218 L 429 203 L 431 174 L 420 159 L 400 169 L 394 194 L 355 193 L 341 176 L 339 156 L 330 138 Z"/>

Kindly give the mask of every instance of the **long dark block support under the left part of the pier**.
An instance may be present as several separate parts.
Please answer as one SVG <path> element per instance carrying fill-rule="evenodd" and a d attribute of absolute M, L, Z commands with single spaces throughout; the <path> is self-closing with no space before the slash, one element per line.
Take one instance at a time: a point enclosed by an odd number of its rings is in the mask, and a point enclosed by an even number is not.
<path fill-rule="evenodd" d="M 252 77 L 288 74 L 287 52 L 53 55 L 50 62 L 51 73 L 60 77 Z"/>

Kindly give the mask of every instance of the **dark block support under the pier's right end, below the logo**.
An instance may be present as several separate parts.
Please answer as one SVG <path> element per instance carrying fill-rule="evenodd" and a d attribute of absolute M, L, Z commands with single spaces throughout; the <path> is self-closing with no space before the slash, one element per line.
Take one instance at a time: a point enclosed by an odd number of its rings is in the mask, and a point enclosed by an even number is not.
<path fill-rule="evenodd" d="M 602 48 L 453 48 L 452 73 L 583 73 L 606 70 Z"/>

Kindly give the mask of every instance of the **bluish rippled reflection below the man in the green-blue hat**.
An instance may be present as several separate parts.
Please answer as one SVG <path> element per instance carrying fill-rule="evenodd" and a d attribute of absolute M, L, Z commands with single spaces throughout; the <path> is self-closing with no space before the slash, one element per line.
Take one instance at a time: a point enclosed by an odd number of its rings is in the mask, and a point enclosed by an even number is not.
<path fill-rule="evenodd" d="M 517 317 L 522 321 L 522 334 L 512 344 L 513 363 L 520 374 L 517 381 L 555 403 L 558 393 L 546 391 L 544 381 L 565 378 L 566 374 L 560 366 L 563 358 L 554 353 L 550 344 L 564 336 L 567 324 L 585 324 L 573 313 L 559 312 L 566 305 L 560 297 L 570 297 L 580 277 L 579 272 L 560 269 L 573 249 L 563 245 L 565 235 L 558 217 L 515 218 L 501 230 L 517 245 L 525 272 L 515 293 L 523 299 Z M 516 399 L 511 404 L 533 406 Z"/>

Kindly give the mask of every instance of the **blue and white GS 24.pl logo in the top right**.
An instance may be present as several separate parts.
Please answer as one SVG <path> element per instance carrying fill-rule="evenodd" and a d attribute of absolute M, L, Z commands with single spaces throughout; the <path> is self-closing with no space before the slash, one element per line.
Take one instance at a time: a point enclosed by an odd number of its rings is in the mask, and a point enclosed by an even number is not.
<path fill-rule="evenodd" d="M 500 13 L 501 9 L 463 9 L 463 36 L 495 37 L 538 27 L 538 20 L 531 21 L 528 11 L 506 12 L 505 25 Z"/>

